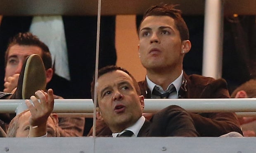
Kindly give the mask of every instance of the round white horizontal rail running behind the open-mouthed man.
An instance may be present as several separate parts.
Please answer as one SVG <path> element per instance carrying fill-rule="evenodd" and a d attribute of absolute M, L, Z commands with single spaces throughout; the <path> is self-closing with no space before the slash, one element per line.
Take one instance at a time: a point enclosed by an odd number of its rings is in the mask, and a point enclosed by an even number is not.
<path fill-rule="evenodd" d="M 256 112 L 256 98 L 225 99 L 145 99 L 145 113 L 156 112 L 169 105 L 178 105 L 189 112 Z M 93 113 L 92 99 L 55 100 L 55 113 Z M 1 113 L 20 113 L 26 109 L 25 100 L 0 100 Z"/>

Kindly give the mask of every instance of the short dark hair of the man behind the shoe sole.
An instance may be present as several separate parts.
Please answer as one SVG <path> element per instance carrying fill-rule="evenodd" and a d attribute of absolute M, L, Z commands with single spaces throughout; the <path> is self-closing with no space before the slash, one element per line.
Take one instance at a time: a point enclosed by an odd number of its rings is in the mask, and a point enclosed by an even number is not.
<path fill-rule="evenodd" d="M 9 50 L 12 46 L 16 44 L 24 45 L 24 46 L 38 46 L 40 49 L 42 49 L 41 58 L 45 65 L 45 69 L 47 70 L 49 68 L 52 68 L 52 56 L 49 51 L 49 48 L 45 43 L 41 42 L 38 39 L 38 37 L 33 35 L 31 32 L 24 32 L 24 33 L 20 32 L 9 40 L 9 44 L 5 52 L 5 67 L 7 65 Z"/>

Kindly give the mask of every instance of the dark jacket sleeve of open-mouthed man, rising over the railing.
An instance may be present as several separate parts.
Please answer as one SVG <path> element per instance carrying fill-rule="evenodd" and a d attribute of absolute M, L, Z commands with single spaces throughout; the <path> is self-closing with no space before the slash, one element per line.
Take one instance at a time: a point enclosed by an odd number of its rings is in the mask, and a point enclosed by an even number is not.
<path fill-rule="evenodd" d="M 194 122 L 187 111 L 171 105 L 152 117 L 149 136 L 152 137 L 197 137 Z"/>

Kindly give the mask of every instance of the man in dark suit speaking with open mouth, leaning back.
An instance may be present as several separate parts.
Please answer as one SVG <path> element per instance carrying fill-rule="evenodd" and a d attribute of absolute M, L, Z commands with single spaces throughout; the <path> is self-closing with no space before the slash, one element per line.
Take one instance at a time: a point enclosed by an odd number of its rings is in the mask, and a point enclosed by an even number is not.
<path fill-rule="evenodd" d="M 97 118 L 103 120 L 113 137 L 197 137 L 191 116 L 172 105 L 157 112 L 151 122 L 142 116 L 144 96 L 137 81 L 121 67 L 107 66 L 99 70 L 97 83 Z M 92 96 L 93 97 L 93 96 Z M 127 134 L 129 133 L 129 135 Z"/>

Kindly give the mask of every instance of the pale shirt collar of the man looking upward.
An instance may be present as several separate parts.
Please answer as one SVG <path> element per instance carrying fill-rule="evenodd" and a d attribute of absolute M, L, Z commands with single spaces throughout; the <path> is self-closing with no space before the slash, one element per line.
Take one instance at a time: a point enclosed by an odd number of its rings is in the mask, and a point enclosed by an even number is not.
<path fill-rule="evenodd" d="M 152 95 L 152 91 L 153 91 L 153 89 L 154 89 L 154 86 L 159 87 L 160 90 L 162 90 L 162 91 L 164 92 L 164 89 L 163 89 L 161 86 L 159 86 L 159 85 L 155 84 L 154 82 L 152 82 L 152 81 L 148 78 L 147 75 L 146 75 L 146 81 L 147 81 L 147 86 L 148 86 L 149 90 L 151 91 L 151 95 Z M 169 84 L 169 86 L 171 86 L 171 84 L 173 84 L 173 85 L 175 86 L 176 91 L 177 91 L 177 95 L 178 95 L 178 92 L 179 92 L 179 90 L 180 90 L 180 86 L 181 86 L 181 84 L 182 84 L 182 81 L 183 81 L 183 70 L 181 70 L 180 76 L 178 76 L 177 79 L 175 79 L 173 82 L 171 82 L 171 83 Z M 168 87 L 169 87 L 169 86 L 168 86 Z"/>

